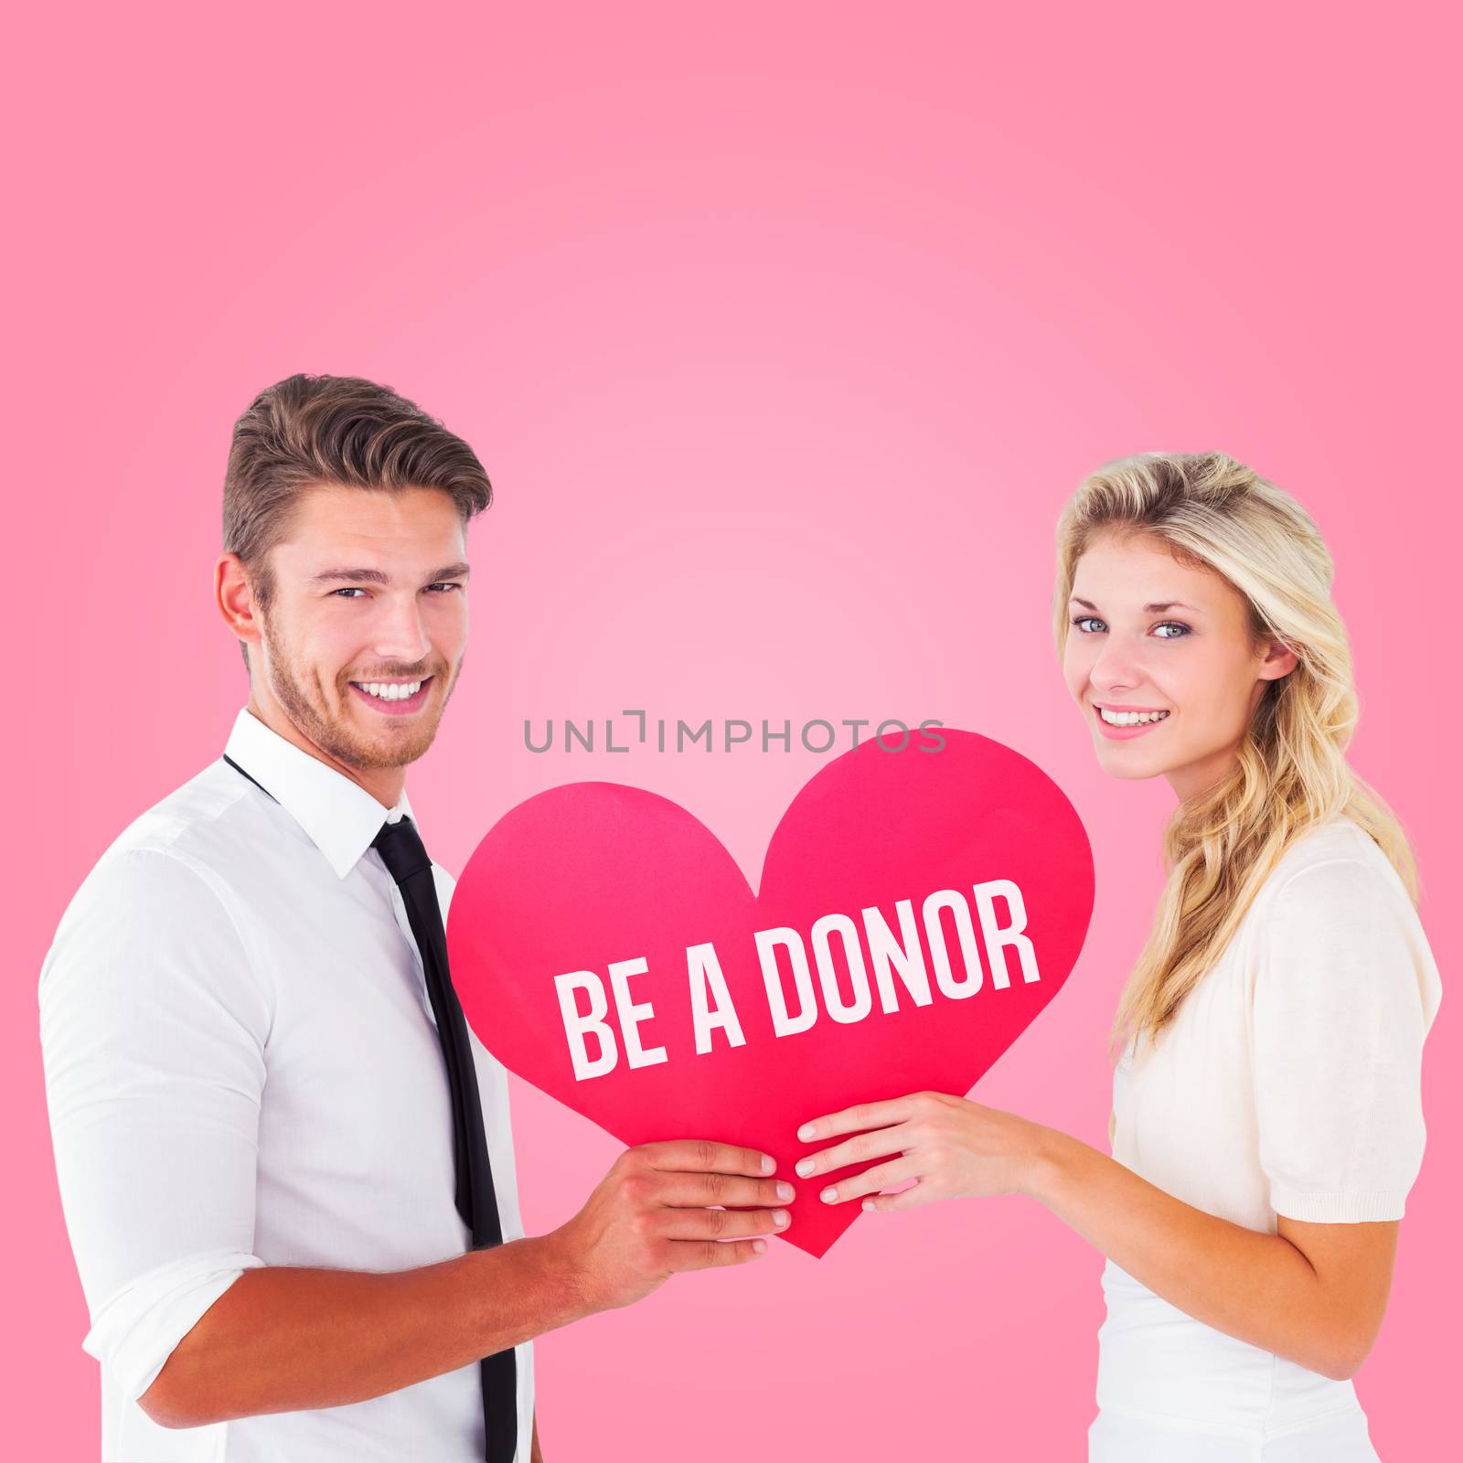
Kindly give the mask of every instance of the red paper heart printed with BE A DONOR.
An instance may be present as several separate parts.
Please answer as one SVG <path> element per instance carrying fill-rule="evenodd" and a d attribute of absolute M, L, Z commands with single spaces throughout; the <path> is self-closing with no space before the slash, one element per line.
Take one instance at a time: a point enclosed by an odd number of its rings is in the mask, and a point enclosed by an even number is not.
<path fill-rule="evenodd" d="M 800 1122 L 857 1102 L 909 1091 L 966 1093 L 1056 995 L 1077 960 L 1093 904 L 1087 834 L 1061 789 L 1033 762 L 973 732 L 947 729 L 938 751 L 865 742 L 824 767 L 793 799 L 767 850 L 761 892 L 720 841 L 676 803 L 616 783 L 571 783 L 530 797 L 483 838 L 452 897 L 452 977 L 473 1030 L 511 1071 L 625 1144 L 714 1138 L 771 1153 L 778 1173 L 819 1144 L 799 1143 Z M 925 742 L 923 745 L 932 745 Z M 982 982 L 951 998 L 938 985 L 922 920 L 926 897 L 948 890 L 969 903 L 979 939 L 974 887 L 1011 881 L 1037 979 L 1005 945 L 1008 985 L 998 986 L 979 947 Z M 895 936 L 897 901 L 910 900 L 929 973 L 930 1002 L 916 1005 L 894 976 L 897 1008 L 884 1009 L 862 911 L 876 907 Z M 1009 901 L 988 900 L 1002 928 Z M 840 1023 L 819 985 L 813 923 L 849 916 L 869 971 L 872 1009 Z M 971 977 L 957 914 L 936 914 L 951 979 Z M 753 932 L 787 926 L 802 936 L 818 1015 L 808 1030 L 774 1034 L 770 992 Z M 745 1043 L 710 1033 L 696 1052 L 686 951 L 712 942 Z M 837 995 L 854 985 L 838 936 L 828 942 Z M 635 1030 L 666 1059 L 631 1067 L 616 1020 L 612 961 L 644 957 L 629 980 L 654 1015 Z M 780 957 L 789 1008 L 791 967 Z M 575 1080 L 554 977 L 595 971 L 609 998 L 619 1058 L 612 1071 Z M 587 993 L 576 996 L 587 1009 Z M 585 1052 L 600 1046 L 591 1036 Z M 847 1170 L 846 1170 L 847 1172 Z M 827 1179 L 797 1184 L 786 1236 L 822 1255 L 860 1213 L 818 1198 Z"/>

